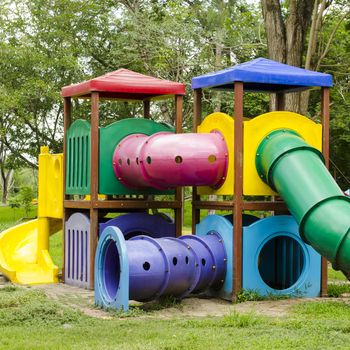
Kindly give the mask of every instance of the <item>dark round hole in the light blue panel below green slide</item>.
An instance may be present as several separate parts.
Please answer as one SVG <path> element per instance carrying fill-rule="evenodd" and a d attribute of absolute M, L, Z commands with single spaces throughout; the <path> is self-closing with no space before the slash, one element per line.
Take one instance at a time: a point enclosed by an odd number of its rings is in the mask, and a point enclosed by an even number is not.
<path fill-rule="evenodd" d="M 258 269 L 271 288 L 283 290 L 293 286 L 304 268 L 305 256 L 298 241 L 288 236 L 270 239 L 261 249 Z"/>

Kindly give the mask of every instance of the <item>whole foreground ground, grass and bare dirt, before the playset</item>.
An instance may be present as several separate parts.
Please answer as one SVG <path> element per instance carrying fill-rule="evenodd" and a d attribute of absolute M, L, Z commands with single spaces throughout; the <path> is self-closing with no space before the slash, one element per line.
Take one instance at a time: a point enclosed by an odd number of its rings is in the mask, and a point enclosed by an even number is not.
<path fill-rule="evenodd" d="M 335 286 L 347 282 L 334 281 Z M 133 303 L 129 314 L 93 305 L 63 284 L 0 279 L 0 349 L 348 349 L 350 298 Z"/>

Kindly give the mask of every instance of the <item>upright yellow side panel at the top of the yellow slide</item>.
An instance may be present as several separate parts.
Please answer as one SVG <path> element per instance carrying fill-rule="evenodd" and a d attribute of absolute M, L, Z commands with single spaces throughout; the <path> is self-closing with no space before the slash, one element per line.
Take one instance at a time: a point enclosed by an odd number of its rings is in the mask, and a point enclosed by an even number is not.
<path fill-rule="evenodd" d="M 49 154 L 41 147 L 39 155 L 38 216 L 61 219 L 63 215 L 63 155 Z"/>

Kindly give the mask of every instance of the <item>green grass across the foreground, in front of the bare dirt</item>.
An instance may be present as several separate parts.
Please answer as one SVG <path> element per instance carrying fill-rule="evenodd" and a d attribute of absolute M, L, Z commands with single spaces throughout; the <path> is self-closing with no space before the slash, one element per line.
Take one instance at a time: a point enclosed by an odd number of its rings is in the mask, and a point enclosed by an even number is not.
<path fill-rule="evenodd" d="M 341 301 L 302 303 L 286 317 L 141 315 L 96 319 L 42 292 L 5 288 L 0 349 L 348 349 L 350 341 L 350 306 Z"/>

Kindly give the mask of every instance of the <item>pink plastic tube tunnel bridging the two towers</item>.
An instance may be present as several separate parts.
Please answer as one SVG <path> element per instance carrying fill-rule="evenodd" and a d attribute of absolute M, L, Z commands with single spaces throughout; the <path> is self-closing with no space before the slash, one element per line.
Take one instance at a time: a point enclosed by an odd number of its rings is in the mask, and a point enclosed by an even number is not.
<path fill-rule="evenodd" d="M 133 134 L 118 144 L 113 155 L 117 179 L 137 189 L 217 188 L 225 181 L 227 165 L 227 146 L 219 132 Z"/>

